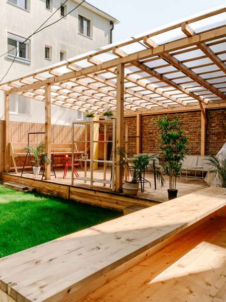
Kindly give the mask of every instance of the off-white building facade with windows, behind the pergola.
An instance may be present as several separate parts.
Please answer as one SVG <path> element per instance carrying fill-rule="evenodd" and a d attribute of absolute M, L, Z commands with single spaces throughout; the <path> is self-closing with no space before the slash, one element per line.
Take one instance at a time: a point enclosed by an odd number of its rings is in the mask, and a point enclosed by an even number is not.
<path fill-rule="evenodd" d="M 111 42 L 112 27 L 119 21 L 84 2 L 56 24 L 35 34 L 39 26 L 60 8 L 44 25 L 65 16 L 81 1 L 1 0 L 0 10 L 0 80 L 22 76 Z M 25 44 L 21 45 L 22 42 Z M 9 53 L 7 53 L 10 51 Z M 3 55 L 4 54 L 4 55 Z M 81 113 L 52 105 L 52 123 L 69 125 L 82 118 Z M 0 119 L 4 119 L 4 94 L 0 94 Z M 44 103 L 23 96 L 12 96 L 12 121 L 45 121 Z"/>

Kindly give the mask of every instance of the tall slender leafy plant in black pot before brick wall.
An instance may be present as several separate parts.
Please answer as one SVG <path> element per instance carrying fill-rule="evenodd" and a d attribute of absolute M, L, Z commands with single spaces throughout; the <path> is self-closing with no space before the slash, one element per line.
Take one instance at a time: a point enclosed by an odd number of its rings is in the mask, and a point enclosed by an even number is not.
<path fill-rule="evenodd" d="M 170 120 L 167 116 L 157 121 L 160 130 L 160 149 L 163 152 L 165 175 L 169 176 L 169 200 L 177 197 L 176 181 L 180 177 L 185 155 L 188 153 L 187 136 L 184 135 L 182 123 L 176 118 Z"/>

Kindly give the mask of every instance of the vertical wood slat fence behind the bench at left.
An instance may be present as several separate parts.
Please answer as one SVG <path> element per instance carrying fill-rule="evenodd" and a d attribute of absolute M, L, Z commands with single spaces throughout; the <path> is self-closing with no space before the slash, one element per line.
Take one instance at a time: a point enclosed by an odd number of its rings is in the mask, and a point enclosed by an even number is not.
<path fill-rule="evenodd" d="M 84 131 L 81 127 L 77 127 L 75 131 L 77 140 L 84 140 Z M 45 132 L 45 124 L 41 123 L 27 123 L 27 122 L 10 122 L 10 141 L 28 143 L 29 132 Z M 44 134 L 34 134 L 30 136 L 30 142 L 45 142 Z M 52 125 L 52 143 L 71 143 L 71 126 Z M 83 150 L 82 143 L 78 145 L 79 150 Z M 62 152 L 66 149 L 62 149 Z M 15 150 L 15 152 L 22 152 L 22 150 Z M 22 166 L 23 157 L 17 158 L 17 166 Z M 63 164 L 64 159 L 56 159 L 56 165 Z M 11 163 L 12 167 L 12 163 Z M 4 171 L 4 121 L 0 121 L 0 173 Z"/>

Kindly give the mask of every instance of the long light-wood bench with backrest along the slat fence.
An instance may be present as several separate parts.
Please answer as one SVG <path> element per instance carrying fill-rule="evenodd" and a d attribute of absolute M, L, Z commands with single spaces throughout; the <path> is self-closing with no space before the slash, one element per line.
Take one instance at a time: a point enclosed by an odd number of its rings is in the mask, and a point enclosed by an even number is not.
<path fill-rule="evenodd" d="M 33 146 L 36 146 L 38 143 L 31 142 Z M 15 159 L 21 156 L 22 154 L 26 154 L 25 148 L 27 147 L 27 143 L 25 142 L 10 142 L 10 158 L 12 158 L 14 167 L 11 169 L 15 169 L 16 174 L 18 174 L 18 167 Z M 17 151 L 16 151 L 17 150 Z M 52 143 L 51 144 L 51 153 L 53 153 L 54 157 L 64 157 L 64 155 L 72 154 L 72 144 L 71 143 Z M 83 153 L 83 151 L 79 151 L 75 146 L 75 156 L 79 156 Z M 80 166 L 81 162 L 79 162 Z"/>

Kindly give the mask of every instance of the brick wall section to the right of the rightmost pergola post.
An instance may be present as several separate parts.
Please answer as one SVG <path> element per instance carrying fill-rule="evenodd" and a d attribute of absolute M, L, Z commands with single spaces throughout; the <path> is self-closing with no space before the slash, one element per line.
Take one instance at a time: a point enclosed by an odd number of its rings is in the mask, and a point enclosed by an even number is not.
<path fill-rule="evenodd" d="M 216 155 L 226 142 L 226 110 L 207 111 L 206 154 Z"/>

